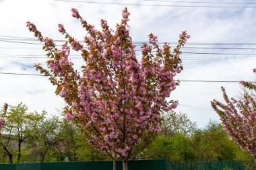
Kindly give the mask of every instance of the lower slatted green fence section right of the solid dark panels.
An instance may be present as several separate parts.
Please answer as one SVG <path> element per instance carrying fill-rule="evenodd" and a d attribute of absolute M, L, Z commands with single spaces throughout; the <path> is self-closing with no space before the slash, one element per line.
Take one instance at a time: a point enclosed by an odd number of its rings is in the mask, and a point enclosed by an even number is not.
<path fill-rule="evenodd" d="M 220 162 L 183 162 L 167 163 L 167 170 L 244 170 L 243 162 L 220 161 Z"/>

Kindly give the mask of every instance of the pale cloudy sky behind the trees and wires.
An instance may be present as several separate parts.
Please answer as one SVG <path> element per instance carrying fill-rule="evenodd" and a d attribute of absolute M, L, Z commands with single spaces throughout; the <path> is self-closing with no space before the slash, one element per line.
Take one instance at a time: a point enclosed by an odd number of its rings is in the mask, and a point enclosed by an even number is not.
<path fill-rule="evenodd" d="M 36 24 L 44 36 L 57 40 L 63 40 L 57 28 L 58 24 L 63 24 L 72 36 L 82 40 L 86 33 L 79 22 L 71 17 L 72 7 L 77 8 L 80 15 L 96 28 L 100 28 L 101 18 L 106 19 L 110 27 L 115 28 L 115 24 L 121 20 L 122 9 L 127 6 L 131 13 L 129 23 L 131 36 L 135 42 L 148 42 L 147 36 L 151 32 L 158 36 L 159 42 L 177 42 L 179 33 L 183 30 L 187 30 L 191 35 L 191 39 L 183 48 L 183 52 L 188 53 L 181 56 L 184 71 L 177 79 L 255 81 L 252 69 L 256 67 L 256 44 L 253 44 L 256 43 L 256 4 L 249 4 L 253 1 L 223 3 L 224 1 L 205 0 L 208 3 L 175 3 L 173 1 L 94 0 L 94 2 L 99 3 L 53 0 L 1 1 L 0 72 L 38 74 L 32 68 L 34 63 L 45 62 L 46 59 L 40 56 L 44 55 L 42 46 L 27 44 L 38 42 L 11 38 L 34 38 L 26 28 L 27 21 Z M 102 2 L 137 5 L 101 4 Z M 74 60 L 74 62 L 76 67 L 82 64 L 82 60 Z M 210 119 L 219 120 L 210 106 L 210 101 L 212 99 L 223 101 L 220 86 L 226 87 L 229 96 L 238 95 L 241 91 L 239 83 L 181 82 L 181 85 L 171 94 L 170 99 L 179 100 L 181 103 L 176 109 L 177 112 L 188 114 L 199 127 L 204 127 Z M 1 105 L 4 102 L 10 105 L 23 102 L 28 105 L 30 112 L 46 110 L 49 114 L 56 114 L 56 109 L 63 108 L 65 103 L 54 92 L 55 87 L 45 77 L 0 74 Z"/>

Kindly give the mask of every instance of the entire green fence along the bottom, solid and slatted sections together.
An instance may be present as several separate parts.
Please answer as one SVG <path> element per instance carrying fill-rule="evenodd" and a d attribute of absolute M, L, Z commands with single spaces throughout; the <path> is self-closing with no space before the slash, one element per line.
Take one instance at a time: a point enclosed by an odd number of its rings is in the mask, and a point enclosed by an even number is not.
<path fill-rule="evenodd" d="M 129 161 L 129 170 L 245 170 L 243 162 L 182 162 L 166 163 L 164 159 Z M 122 161 L 117 161 L 117 170 L 122 170 Z M 0 170 L 113 170 L 112 161 L 17 163 L 0 164 Z"/>

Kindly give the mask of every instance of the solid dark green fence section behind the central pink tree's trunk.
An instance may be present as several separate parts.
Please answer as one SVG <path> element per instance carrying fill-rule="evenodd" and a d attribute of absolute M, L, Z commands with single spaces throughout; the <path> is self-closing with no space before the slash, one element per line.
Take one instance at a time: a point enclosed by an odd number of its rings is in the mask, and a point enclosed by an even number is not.
<path fill-rule="evenodd" d="M 122 170 L 117 161 L 117 170 Z M 166 170 L 166 160 L 128 161 L 129 170 Z M 112 161 L 0 164 L 0 170 L 113 170 Z"/>

